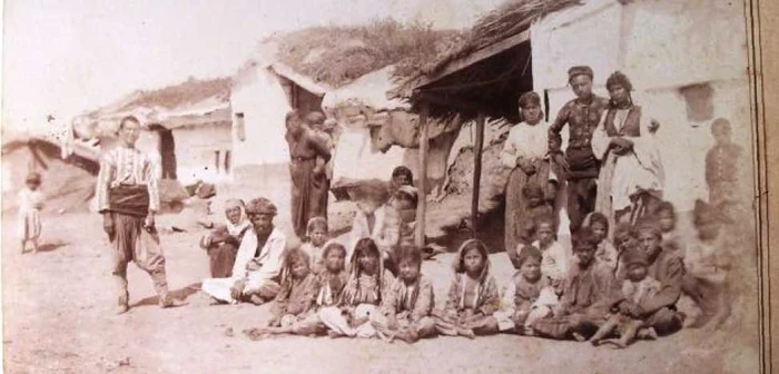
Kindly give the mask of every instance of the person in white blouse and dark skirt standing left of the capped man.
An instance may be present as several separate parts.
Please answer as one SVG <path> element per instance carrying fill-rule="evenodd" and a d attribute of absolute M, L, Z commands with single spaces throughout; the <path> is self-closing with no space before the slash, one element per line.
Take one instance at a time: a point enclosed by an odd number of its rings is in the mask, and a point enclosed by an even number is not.
<path fill-rule="evenodd" d="M 527 201 L 522 195 L 522 188 L 527 185 L 542 188 L 548 201 L 554 201 L 556 189 L 554 187 L 556 178 L 546 157 L 549 124 L 543 120 L 541 98 L 535 92 L 525 92 L 520 97 L 519 104 L 524 121 L 509 130 L 509 138 L 501 152 L 501 161 L 512 169 L 506 186 L 506 250 L 515 250 L 521 242 L 516 227 L 524 219 L 527 210 Z"/>

